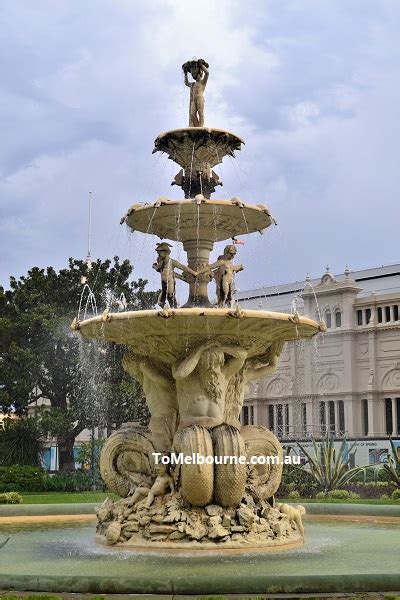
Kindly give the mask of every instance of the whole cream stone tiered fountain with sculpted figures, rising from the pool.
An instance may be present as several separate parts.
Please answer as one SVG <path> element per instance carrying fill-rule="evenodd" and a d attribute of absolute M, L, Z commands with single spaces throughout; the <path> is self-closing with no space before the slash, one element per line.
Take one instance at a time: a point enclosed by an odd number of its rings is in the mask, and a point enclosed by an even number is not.
<path fill-rule="evenodd" d="M 261 204 L 210 198 L 222 185 L 213 167 L 234 157 L 244 142 L 204 127 L 207 63 L 191 61 L 183 70 L 190 87 L 189 127 L 159 135 L 154 151 L 181 167 L 172 184 L 185 199 L 134 204 L 122 222 L 182 242 L 188 264 L 172 259 L 171 245 L 160 242 L 153 268 L 161 275 L 161 310 L 106 312 L 72 325 L 85 338 L 126 346 L 124 368 L 143 386 L 151 413 L 149 430 L 127 427 L 105 444 L 101 474 L 121 500 L 107 500 L 98 511 L 97 539 L 185 551 L 293 547 L 303 543 L 301 507 L 274 502 L 281 445 L 265 427 L 241 426 L 239 419 L 248 382 L 276 369 L 285 341 L 310 338 L 323 326 L 297 314 L 234 306 L 234 276 L 243 268 L 233 264 L 236 236 L 261 232 L 274 220 Z M 209 264 L 214 243 L 224 240 L 230 242 L 224 254 Z M 189 286 L 180 308 L 176 277 Z M 211 279 L 216 306 L 208 299 Z M 156 464 L 155 453 L 164 464 Z M 186 462 L 171 464 L 179 454 Z M 198 459 L 202 464 L 189 464 L 193 455 L 204 457 Z M 246 464 L 253 456 L 275 459 Z M 206 457 L 216 457 L 214 464 Z"/>

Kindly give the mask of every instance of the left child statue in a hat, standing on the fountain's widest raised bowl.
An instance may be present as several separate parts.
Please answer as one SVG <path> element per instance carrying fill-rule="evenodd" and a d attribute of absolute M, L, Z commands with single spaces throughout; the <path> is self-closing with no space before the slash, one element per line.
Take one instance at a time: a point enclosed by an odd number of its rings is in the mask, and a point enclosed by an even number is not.
<path fill-rule="evenodd" d="M 186 281 L 185 277 L 175 273 L 175 269 L 180 269 L 184 273 L 190 273 L 190 275 L 196 276 L 196 271 L 193 271 L 190 267 L 182 265 L 177 260 L 170 257 L 171 244 L 162 242 L 157 244 L 156 252 L 158 254 L 157 261 L 153 263 L 153 269 L 161 274 L 161 294 L 158 297 L 158 304 L 161 308 L 164 308 L 167 300 L 170 308 L 177 308 L 176 295 L 175 295 L 175 279 L 182 279 Z"/>

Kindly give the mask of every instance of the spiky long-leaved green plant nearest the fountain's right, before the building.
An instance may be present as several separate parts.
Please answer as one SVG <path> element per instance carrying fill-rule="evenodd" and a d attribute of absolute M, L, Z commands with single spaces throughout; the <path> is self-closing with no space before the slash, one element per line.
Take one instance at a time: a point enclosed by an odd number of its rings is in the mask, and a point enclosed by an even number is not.
<path fill-rule="evenodd" d="M 324 492 L 337 490 L 348 483 L 364 467 L 349 468 L 349 454 L 356 442 L 346 449 L 347 441 L 344 439 L 336 451 L 333 438 L 327 436 L 321 442 L 313 440 L 314 455 L 311 455 L 299 442 L 297 445 L 307 458 L 307 463 L 312 477 Z"/>

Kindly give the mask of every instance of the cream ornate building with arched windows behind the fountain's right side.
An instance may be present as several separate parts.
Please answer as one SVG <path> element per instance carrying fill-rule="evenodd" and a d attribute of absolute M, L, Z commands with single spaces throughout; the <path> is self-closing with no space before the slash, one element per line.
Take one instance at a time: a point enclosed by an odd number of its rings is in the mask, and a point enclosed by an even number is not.
<path fill-rule="evenodd" d="M 297 310 L 327 332 L 285 344 L 276 373 L 249 386 L 242 422 L 283 442 L 357 440 L 357 464 L 400 436 L 400 264 L 237 294 L 242 308 Z M 396 445 L 398 445 L 396 441 Z M 353 457 L 353 460 L 354 457 Z"/>

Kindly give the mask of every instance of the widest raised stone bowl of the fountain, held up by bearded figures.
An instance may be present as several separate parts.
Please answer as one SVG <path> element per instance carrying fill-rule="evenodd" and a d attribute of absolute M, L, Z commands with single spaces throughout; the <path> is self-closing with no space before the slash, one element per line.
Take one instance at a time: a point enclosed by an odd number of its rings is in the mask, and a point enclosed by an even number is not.
<path fill-rule="evenodd" d="M 178 308 L 105 313 L 75 325 L 85 338 L 134 348 L 141 356 L 172 365 L 194 346 L 212 339 L 240 344 L 248 356 L 263 354 L 274 342 L 310 338 L 323 326 L 306 317 L 278 312 L 221 308 Z"/>

